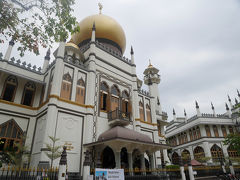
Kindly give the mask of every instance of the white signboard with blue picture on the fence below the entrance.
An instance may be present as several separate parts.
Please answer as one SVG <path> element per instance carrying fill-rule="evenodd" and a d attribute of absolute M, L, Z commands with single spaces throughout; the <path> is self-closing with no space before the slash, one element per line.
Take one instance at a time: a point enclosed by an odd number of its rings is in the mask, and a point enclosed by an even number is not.
<path fill-rule="evenodd" d="M 95 169 L 95 180 L 124 180 L 123 169 Z"/>

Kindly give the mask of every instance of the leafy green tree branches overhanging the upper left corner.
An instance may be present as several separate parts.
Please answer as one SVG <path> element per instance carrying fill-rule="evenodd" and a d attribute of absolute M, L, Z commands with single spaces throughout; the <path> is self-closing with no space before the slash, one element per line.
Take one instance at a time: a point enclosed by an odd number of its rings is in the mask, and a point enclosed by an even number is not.
<path fill-rule="evenodd" d="M 53 42 L 64 41 L 69 33 L 78 32 L 71 15 L 75 0 L 0 0 L 0 44 L 13 39 L 18 51 L 39 54 Z"/>

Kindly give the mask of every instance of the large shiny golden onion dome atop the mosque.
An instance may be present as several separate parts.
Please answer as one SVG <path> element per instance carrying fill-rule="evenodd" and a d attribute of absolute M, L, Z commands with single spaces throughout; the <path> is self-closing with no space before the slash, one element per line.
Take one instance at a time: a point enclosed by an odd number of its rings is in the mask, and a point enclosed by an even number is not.
<path fill-rule="evenodd" d="M 95 22 L 96 38 L 111 40 L 121 48 L 122 54 L 126 48 L 125 33 L 117 21 L 103 14 L 88 16 L 80 23 L 80 32 L 72 36 L 71 41 L 78 45 L 84 40 L 91 39 L 92 26 Z"/>

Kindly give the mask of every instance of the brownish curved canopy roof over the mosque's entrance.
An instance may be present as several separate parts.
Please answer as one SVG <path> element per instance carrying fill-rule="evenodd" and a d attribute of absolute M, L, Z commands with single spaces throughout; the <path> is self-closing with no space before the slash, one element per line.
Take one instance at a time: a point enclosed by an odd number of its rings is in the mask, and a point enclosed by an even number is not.
<path fill-rule="evenodd" d="M 102 133 L 98 141 L 84 144 L 85 147 L 102 145 L 118 148 L 129 147 L 131 149 L 141 149 L 143 151 L 148 150 L 152 152 L 171 148 L 166 144 L 153 142 L 147 135 L 120 126 L 116 126 Z"/>

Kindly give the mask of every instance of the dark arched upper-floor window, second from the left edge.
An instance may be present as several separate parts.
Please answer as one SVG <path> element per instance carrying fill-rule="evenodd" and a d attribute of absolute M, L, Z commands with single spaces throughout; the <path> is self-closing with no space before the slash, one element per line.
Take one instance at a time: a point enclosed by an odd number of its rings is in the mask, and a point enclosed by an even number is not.
<path fill-rule="evenodd" d="M 27 82 L 24 87 L 22 104 L 26 106 L 32 106 L 34 95 L 36 91 L 36 86 L 33 82 Z"/>

